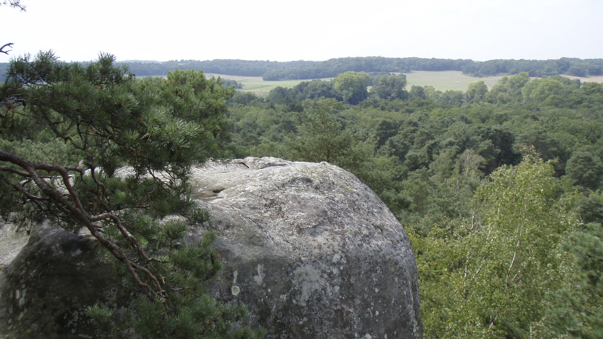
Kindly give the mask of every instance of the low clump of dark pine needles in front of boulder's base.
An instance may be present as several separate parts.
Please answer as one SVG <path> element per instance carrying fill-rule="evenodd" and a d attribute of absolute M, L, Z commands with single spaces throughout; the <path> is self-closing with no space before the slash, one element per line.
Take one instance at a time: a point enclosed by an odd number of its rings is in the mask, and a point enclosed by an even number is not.
<path fill-rule="evenodd" d="M 87 314 L 107 338 L 130 338 L 137 334 L 141 338 L 261 338 L 264 329 L 232 330 L 233 324 L 247 315 L 241 305 L 225 305 L 216 302 L 204 293 L 203 282 L 219 270 L 220 262 L 215 258 L 211 245 L 215 235 L 206 233 L 199 244 L 180 246 L 185 224 L 168 221 L 161 227 L 172 234 L 172 241 L 157 242 L 151 247 L 169 250 L 169 255 L 157 262 L 156 269 L 165 272 L 169 287 L 174 291 L 174 307 L 166 312 L 165 300 L 150 300 L 144 296 L 133 300 L 126 311 L 113 311 L 98 304 L 88 306 Z M 161 232 L 160 232 L 161 233 Z M 159 247 L 161 246 L 161 247 Z M 133 287 L 130 287 L 133 288 Z"/>

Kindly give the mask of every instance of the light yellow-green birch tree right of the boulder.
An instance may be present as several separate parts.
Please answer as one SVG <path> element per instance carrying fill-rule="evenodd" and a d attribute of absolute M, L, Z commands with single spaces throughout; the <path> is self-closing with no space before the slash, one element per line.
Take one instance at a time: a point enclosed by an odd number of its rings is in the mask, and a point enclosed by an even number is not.
<path fill-rule="evenodd" d="M 413 242 L 426 337 L 547 337 L 548 291 L 566 283 L 561 239 L 579 224 L 553 173 L 526 154 L 478 188 L 470 218 Z"/>

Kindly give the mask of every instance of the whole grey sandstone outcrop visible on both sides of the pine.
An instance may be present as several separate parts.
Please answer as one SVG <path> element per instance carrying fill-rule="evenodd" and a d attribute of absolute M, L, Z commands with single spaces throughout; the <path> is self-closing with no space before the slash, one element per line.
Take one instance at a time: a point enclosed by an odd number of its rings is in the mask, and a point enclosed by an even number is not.
<path fill-rule="evenodd" d="M 267 338 L 421 338 L 408 238 L 352 174 L 252 157 L 194 172 L 224 263 L 209 293 L 247 304 L 246 321 Z M 129 295 L 86 232 L 29 233 L 0 227 L 0 339 L 93 337 L 81 307 L 119 307 Z"/>

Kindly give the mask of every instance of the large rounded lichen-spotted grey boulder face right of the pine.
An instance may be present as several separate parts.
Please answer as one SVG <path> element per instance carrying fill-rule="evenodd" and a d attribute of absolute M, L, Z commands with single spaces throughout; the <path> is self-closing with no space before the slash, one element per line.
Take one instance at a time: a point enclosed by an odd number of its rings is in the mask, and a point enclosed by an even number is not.
<path fill-rule="evenodd" d="M 212 293 L 249 305 L 268 338 L 420 338 L 403 227 L 329 163 L 234 160 L 194 175 L 224 269 Z"/>

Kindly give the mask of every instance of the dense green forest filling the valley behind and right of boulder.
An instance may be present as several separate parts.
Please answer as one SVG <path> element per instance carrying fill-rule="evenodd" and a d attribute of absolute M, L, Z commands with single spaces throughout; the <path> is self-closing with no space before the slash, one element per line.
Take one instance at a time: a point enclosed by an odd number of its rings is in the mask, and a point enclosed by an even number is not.
<path fill-rule="evenodd" d="M 377 192 L 411 235 L 426 338 L 601 338 L 603 85 L 369 78 L 236 93 L 230 149 L 328 161 Z"/>

